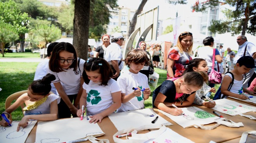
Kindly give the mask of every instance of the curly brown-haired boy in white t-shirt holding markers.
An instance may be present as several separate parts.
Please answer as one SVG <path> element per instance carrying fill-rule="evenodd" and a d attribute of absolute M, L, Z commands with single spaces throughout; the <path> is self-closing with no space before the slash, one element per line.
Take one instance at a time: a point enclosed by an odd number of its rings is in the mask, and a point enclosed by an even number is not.
<path fill-rule="evenodd" d="M 150 65 L 147 53 L 142 49 L 133 49 L 127 54 L 125 64 L 130 69 L 117 80 L 122 94 L 122 105 L 117 112 L 144 109 L 144 100 L 149 99 L 151 91 L 147 76 L 139 71 L 144 65 Z M 133 87 L 137 89 L 133 90 Z"/>

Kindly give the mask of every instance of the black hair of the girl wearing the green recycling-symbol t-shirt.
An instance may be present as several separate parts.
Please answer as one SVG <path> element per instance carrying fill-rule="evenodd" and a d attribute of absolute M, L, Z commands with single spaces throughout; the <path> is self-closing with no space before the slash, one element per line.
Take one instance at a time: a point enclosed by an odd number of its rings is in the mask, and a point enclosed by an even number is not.
<path fill-rule="evenodd" d="M 86 84 L 89 84 L 90 82 L 90 79 L 86 74 L 86 71 L 91 72 L 99 70 L 102 77 L 102 82 L 100 85 L 107 85 L 107 82 L 113 76 L 113 72 L 109 66 L 109 63 L 107 63 L 107 61 L 102 58 L 92 58 L 91 60 L 87 60 L 85 62 L 83 70 L 83 80 Z"/>

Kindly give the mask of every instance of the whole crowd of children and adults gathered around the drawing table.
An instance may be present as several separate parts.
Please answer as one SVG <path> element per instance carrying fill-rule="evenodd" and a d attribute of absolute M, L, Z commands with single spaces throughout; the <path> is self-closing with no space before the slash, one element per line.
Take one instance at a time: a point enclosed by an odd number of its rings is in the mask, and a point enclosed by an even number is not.
<path fill-rule="evenodd" d="M 101 123 L 111 113 L 144 109 L 144 101 L 151 94 L 149 73 L 154 70 L 153 63 L 159 59 L 159 49 L 154 49 L 150 55 L 145 50 L 146 43 L 141 41 L 138 49 L 129 51 L 122 59 L 124 39 L 121 33 L 111 37 L 103 35 L 103 44 L 95 48 L 94 53 L 88 48 L 88 60 L 78 58 L 76 49 L 70 43 L 49 44 L 48 57 L 38 65 L 28 92 L 3 114 L 9 118 L 17 107 L 26 104 L 22 109 L 24 117 L 17 128 L 19 131 L 19 127 L 25 128 L 31 119 L 51 121 L 71 115 L 80 117 L 86 113 L 90 123 Z M 237 43 L 237 54 L 228 48 L 230 61 L 233 60 L 235 67 L 223 76 L 220 98 L 248 99 L 242 92 L 256 94 L 255 79 L 249 88 L 246 86 L 256 68 L 256 47 L 245 36 L 237 37 Z M 173 105 L 182 107 L 194 103 L 208 108 L 215 106 L 208 92 L 216 92 L 216 89 L 213 83 L 208 82 L 208 75 L 211 70 L 217 70 L 216 66 L 212 67 L 213 59 L 221 63 L 224 52 L 214 48 L 211 36 L 206 37 L 203 44 L 198 49 L 197 57 L 192 59 L 193 34 L 182 32 L 179 35 L 177 44 L 168 51 L 167 79 L 152 92 L 153 107 L 178 116 L 183 111 L 170 108 Z M 126 70 L 121 73 L 124 65 Z M 229 88 L 231 83 L 233 85 Z M 86 108 L 82 110 L 82 106 Z M 0 121 L 1 126 L 8 126 L 9 123 L 3 118 Z"/>

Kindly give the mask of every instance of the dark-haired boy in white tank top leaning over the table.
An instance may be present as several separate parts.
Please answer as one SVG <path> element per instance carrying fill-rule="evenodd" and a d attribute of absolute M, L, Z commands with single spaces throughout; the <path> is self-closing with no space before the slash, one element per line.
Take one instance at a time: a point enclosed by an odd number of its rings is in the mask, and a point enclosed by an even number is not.
<path fill-rule="evenodd" d="M 221 83 L 221 98 L 223 95 L 224 98 L 227 98 L 227 96 L 236 97 L 239 99 L 248 99 L 246 95 L 242 95 L 242 92 L 246 92 L 251 95 L 255 95 L 256 92 L 252 92 L 250 90 L 247 90 L 243 88 L 243 82 L 244 77 L 243 74 L 246 74 L 251 70 L 251 68 L 256 68 L 255 61 L 253 57 L 251 56 L 242 56 L 239 58 L 237 63 L 235 64 L 235 69 L 230 71 L 234 75 L 234 83 L 231 87 L 231 89 L 228 91 L 228 86 L 232 82 L 232 75 L 230 73 L 226 73 L 223 77 L 222 83 Z"/>

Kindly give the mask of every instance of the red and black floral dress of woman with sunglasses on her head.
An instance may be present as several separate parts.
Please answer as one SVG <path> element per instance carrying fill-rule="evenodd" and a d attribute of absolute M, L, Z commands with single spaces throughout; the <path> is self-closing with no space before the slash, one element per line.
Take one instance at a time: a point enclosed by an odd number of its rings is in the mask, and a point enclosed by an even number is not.
<path fill-rule="evenodd" d="M 192 60 L 191 56 L 189 56 L 189 53 L 187 52 L 180 53 L 178 47 L 173 47 L 170 49 L 168 58 L 175 60 L 173 65 L 174 77 L 181 77 L 181 75 L 185 71 L 185 66 L 189 64 L 190 60 Z M 168 75 L 168 72 L 167 72 L 167 79 L 169 78 L 171 77 Z"/>

